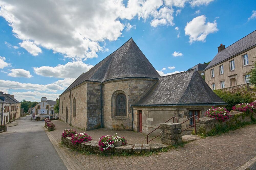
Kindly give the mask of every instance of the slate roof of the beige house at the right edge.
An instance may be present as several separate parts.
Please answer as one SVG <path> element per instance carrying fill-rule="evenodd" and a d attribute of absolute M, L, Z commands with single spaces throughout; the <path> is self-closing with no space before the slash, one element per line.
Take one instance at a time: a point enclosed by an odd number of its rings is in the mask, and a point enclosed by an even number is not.
<path fill-rule="evenodd" d="M 221 63 L 222 61 L 232 58 L 253 46 L 256 46 L 256 30 L 220 51 L 208 64 L 205 70 L 215 66 L 218 63 Z"/>

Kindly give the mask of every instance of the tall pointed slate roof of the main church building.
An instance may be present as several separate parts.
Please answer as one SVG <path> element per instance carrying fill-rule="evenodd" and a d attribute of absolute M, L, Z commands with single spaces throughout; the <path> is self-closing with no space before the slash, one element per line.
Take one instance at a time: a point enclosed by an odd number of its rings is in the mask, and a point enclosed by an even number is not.
<path fill-rule="evenodd" d="M 132 38 L 89 71 L 81 74 L 62 94 L 84 81 L 104 82 L 128 77 L 160 77 Z"/>

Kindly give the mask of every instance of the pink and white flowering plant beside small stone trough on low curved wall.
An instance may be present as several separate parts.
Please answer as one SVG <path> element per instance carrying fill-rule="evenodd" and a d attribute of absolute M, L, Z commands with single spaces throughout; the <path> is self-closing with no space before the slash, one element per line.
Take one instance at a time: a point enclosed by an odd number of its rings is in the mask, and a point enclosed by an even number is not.
<path fill-rule="evenodd" d="M 102 136 L 99 141 L 100 150 L 109 150 L 110 148 L 114 148 L 113 145 L 114 142 L 122 141 L 122 145 L 126 145 L 127 141 L 124 137 L 117 136 L 117 133 L 114 134 L 114 136 Z"/>

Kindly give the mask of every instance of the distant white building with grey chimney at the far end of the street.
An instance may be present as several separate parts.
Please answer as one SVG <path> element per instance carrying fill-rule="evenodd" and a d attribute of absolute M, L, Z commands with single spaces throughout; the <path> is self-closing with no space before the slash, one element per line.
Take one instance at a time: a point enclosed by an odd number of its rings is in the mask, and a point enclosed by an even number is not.
<path fill-rule="evenodd" d="M 35 117 L 58 118 L 58 114 L 54 112 L 55 104 L 55 100 L 47 100 L 46 97 L 41 97 L 41 101 L 32 109 L 32 112 L 35 113 Z M 41 116 L 36 116 L 38 114 Z"/>

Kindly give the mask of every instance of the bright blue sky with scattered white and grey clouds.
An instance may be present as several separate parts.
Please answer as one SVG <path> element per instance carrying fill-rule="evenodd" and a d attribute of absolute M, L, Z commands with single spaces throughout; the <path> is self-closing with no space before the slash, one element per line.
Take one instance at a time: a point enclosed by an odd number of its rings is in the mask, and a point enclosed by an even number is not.
<path fill-rule="evenodd" d="M 55 100 L 131 37 L 161 76 L 256 29 L 256 1 L 0 0 L 0 90 Z"/>

